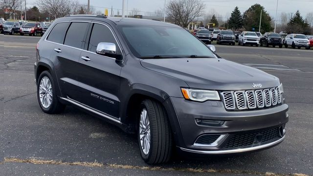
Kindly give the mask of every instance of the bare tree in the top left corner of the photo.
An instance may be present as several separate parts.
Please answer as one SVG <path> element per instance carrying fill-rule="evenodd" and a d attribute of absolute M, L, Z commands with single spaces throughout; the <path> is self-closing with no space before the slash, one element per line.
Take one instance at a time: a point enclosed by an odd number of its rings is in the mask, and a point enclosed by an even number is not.
<path fill-rule="evenodd" d="M 16 10 L 21 8 L 21 0 L 1 0 L 0 8 L 2 9 L 4 20 L 14 15 Z"/>

